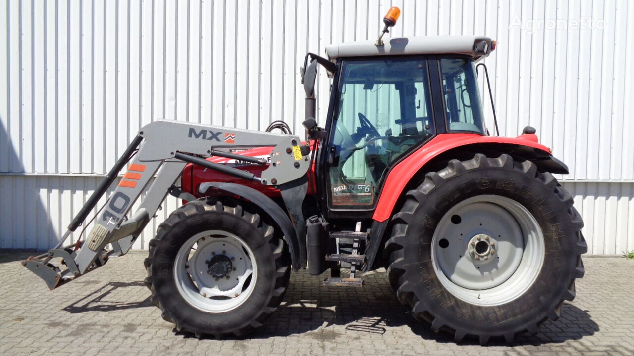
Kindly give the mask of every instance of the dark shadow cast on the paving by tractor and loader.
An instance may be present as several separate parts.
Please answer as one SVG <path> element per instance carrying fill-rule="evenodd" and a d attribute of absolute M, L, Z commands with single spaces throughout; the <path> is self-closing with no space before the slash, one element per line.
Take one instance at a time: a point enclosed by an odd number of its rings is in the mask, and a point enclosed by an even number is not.
<path fill-rule="evenodd" d="M 308 276 L 306 272 L 292 275 L 284 302 L 264 326 L 256 329 L 246 338 L 271 338 L 293 334 L 306 334 L 316 340 L 334 340 L 338 336 L 353 337 L 355 333 L 375 334 L 377 337 L 389 333 L 391 328 L 407 327 L 412 333 L 425 340 L 440 343 L 454 343 L 453 335 L 434 333 L 429 324 L 416 321 L 398 302 L 384 273 L 376 273 L 366 279 L 366 286 L 355 288 L 326 288 L 321 286 L 321 278 Z M 91 283 L 87 280 L 84 283 Z M 94 282 L 99 283 L 99 282 Z M 150 307 L 148 297 L 137 302 L 126 300 L 131 293 L 120 290 L 142 287 L 143 282 L 110 282 L 76 302 L 63 308 L 70 313 L 107 312 L 128 308 Z M 135 293 L 136 295 L 136 293 Z M 330 326 L 343 326 L 333 328 Z M 599 330 L 592 321 L 588 310 L 581 310 L 564 303 L 557 321 L 547 321 L 540 327 L 540 333 L 519 334 L 512 345 L 542 345 L 579 340 Z M 184 338 L 193 337 L 189 333 L 174 333 Z M 461 345 L 479 345 L 475 338 L 465 338 Z M 501 338 L 491 339 L 488 345 L 507 345 Z M 509 346 L 512 346 L 509 345 Z"/>

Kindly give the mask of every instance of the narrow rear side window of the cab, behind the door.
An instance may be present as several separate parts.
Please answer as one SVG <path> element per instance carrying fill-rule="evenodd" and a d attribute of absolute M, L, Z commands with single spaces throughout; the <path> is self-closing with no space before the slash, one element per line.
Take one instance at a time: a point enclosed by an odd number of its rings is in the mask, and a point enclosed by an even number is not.
<path fill-rule="evenodd" d="M 447 129 L 486 134 L 473 61 L 443 58 L 440 66 L 443 72 Z"/>

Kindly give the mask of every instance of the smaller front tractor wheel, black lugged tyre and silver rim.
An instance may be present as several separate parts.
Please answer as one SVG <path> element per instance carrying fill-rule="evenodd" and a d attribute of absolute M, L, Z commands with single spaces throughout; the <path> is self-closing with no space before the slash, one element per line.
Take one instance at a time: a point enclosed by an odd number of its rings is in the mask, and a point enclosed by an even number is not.
<path fill-rule="evenodd" d="M 235 200 L 203 198 L 176 210 L 145 260 L 152 303 L 176 329 L 242 336 L 280 305 L 287 246 L 261 215 Z"/>

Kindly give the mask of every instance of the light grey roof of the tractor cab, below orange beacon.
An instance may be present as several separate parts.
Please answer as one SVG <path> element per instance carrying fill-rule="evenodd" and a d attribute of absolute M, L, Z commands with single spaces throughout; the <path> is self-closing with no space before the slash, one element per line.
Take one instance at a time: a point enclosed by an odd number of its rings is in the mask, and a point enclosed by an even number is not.
<path fill-rule="evenodd" d="M 492 40 L 486 36 L 417 36 L 386 39 L 384 46 L 375 41 L 354 41 L 326 46 L 328 58 L 395 56 L 408 54 L 464 54 L 477 61 L 488 56 Z"/>

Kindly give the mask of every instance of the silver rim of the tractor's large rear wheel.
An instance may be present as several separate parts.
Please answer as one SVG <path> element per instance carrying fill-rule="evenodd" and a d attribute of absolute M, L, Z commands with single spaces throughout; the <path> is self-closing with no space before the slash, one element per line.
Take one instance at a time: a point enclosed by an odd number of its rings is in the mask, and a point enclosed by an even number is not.
<path fill-rule="evenodd" d="M 537 220 L 520 203 L 480 195 L 443 216 L 431 253 L 436 276 L 451 294 L 476 305 L 500 305 L 533 285 L 545 246 Z"/>

